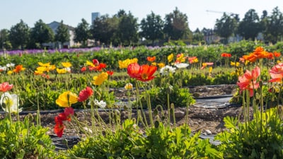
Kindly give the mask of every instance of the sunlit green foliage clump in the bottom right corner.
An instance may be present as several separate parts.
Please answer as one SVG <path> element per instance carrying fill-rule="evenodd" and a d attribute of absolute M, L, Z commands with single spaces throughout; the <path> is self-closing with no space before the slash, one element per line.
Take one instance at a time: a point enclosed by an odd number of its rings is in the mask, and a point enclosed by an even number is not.
<path fill-rule="evenodd" d="M 215 137 L 221 141 L 218 148 L 224 158 L 283 158 L 282 110 L 278 110 L 272 108 L 262 114 L 257 111 L 253 120 L 243 124 L 238 118 L 225 117 L 228 130 Z"/>

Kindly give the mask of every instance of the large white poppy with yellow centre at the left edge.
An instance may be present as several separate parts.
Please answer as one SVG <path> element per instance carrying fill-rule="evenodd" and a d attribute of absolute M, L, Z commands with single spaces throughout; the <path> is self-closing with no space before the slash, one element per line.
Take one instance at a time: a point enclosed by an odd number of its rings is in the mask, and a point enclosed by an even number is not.
<path fill-rule="evenodd" d="M 10 94 L 10 93 L 3 93 L 0 99 L 1 107 L 5 112 L 10 112 L 11 113 L 17 113 L 21 112 L 23 108 L 18 108 L 19 106 L 19 101 L 18 101 L 18 95 L 16 94 Z"/>

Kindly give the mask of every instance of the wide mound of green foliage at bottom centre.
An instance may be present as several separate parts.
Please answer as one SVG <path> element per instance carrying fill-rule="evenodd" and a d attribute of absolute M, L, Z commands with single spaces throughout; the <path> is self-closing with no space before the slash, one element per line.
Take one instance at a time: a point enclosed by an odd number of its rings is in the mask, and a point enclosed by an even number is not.
<path fill-rule="evenodd" d="M 156 127 L 141 129 L 133 120 L 125 120 L 122 129 L 88 137 L 67 153 L 81 158 L 222 158 L 208 139 L 190 128 L 170 129 L 156 121 Z"/>

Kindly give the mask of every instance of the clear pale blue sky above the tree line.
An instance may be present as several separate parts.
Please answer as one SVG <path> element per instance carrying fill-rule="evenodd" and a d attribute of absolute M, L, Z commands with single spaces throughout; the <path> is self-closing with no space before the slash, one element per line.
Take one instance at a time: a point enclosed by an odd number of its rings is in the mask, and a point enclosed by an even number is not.
<path fill-rule="evenodd" d="M 251 8 L 258 16 L 266 10 L 271 15 L 278 6 L 283 13 L 282 0 L 1 0 L 0 30 L 10 29 L 22 19 L 30 28 L 37 20 L 44 23 L 63 20 L 64 24 L 76 27 L 84 18 L 91 24 L 91 13 L 115 15 L 121 9 L 138 18 L 138 23 L 153 11 L 164 17 L 178 10 L 187 15 L 190 30 L 214 28 L 216 19 L 223 13 L 236 13 L 242 20 Z"/>

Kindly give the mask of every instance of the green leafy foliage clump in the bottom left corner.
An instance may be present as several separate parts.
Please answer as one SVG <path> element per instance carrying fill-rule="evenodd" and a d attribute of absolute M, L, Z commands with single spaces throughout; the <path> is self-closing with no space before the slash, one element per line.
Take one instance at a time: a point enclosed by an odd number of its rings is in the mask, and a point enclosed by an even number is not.
<path fill-rule="evenodd" d="M 0 158 L 54 158 L 54 146 L 45 134 L 47 128 L 35 126 L 32 118 L 30 114 L 23 122 L 0 120 Z"/>

